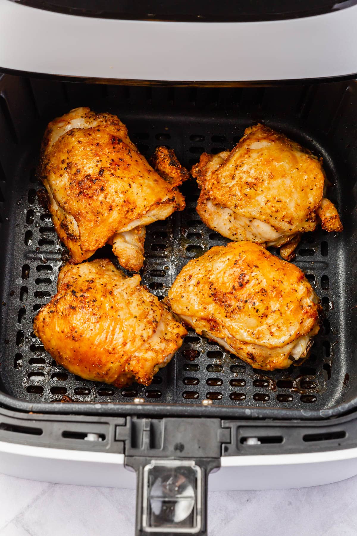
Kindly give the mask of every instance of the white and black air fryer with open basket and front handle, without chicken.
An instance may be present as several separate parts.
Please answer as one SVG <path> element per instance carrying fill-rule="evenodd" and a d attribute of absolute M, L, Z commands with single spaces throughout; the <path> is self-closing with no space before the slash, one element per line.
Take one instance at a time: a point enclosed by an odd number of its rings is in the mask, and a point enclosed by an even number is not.
<path fill-rule="evenodd" d="M 134 487 L 134 470 L 136 534 L 206 534 L 208 483 L 357 474 L 357 7 L 281 4 L 0 1 L 0 471 Z M 45 353 L 33 317 L 65 248 L 35 169 L 47 123 L 78 106 L 118 115 L 145 157 L 166 145 L 188 168 L 256 122 L 323 158 L 344 232 L 304 235 L 294 260 L 323 307 L 306 362 L 265 373 L 189 331 L 149 387 L 118 389 Z M 159 299 L 189 259 L 227 243 L 198 217 L 195 182 L 182 191 L 186 209 L 147 228 L 141 276 Z"/>

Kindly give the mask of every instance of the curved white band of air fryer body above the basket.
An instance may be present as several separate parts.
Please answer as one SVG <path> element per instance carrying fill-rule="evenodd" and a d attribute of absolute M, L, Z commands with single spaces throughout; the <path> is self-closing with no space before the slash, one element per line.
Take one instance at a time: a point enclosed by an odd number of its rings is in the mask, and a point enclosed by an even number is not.
<path fill-rule="evenodd" d="M 72 16 L 0 0 L 0 67 L 211 83 L 351 76 L 357 5 L 312 17 L 202 23 Z"/>

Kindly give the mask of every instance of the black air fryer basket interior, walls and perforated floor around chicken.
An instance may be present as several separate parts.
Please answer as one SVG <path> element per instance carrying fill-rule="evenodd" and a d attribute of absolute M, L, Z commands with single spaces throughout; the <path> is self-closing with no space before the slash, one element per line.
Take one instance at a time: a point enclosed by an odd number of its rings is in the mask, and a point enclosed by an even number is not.
<path fill-rule="evenodd" d="M 28 403 L 80 401 L 279 408 L 304 413 L 352 407 L 357 397 L 357 83 L 267 88 L 173 88 L 85 85 L 3 76 L 0 79 L 1 390 Z M 345 229 L 303 237 L 294 262 L 321 297 L 324 318 L 310 359 L 264 373 L 189 331 L 149 388 L 87 382 L 58 367 L 33 334 L 33 317 L 56 292 L 65 258 L 50 216 L 39 204 L 35 175 L 45 125 L 77 106 L 117 114 L 148 157 L 172 147 L 191 167 L 203 151 L 231 149 L 246 126 L 263 121 L 321 156 Z M 198 189 L 184 185 L 186 209 L 147 228 L 142 280 L 159 297 L 188 259 L 226 240 L 202 224 Z M 272 250 L 274 251 L 274 250 Z M 111 248 L 96 257 L 114 259 Z M 10 402 L 9 402 L 10 404 Z M 11 405 L 11 404 L 10 404 Z M 55 404 L 54 406 L 57 406 Z M 347 409 L 347 407 L 345 408 Z M 321 415 L 328 416 L 329 411 Z M 283 415 L 283 413 L 282 413 Z M 286 413 L 288 416 L 288 413 Z"/>

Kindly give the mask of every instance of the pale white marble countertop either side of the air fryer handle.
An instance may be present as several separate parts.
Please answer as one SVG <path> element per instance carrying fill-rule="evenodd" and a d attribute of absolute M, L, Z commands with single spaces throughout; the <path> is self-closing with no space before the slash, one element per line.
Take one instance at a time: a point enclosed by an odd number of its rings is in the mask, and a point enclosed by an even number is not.
<path fill-rule="evenodd" d="M 0 536 L 133 536 L 133 490 L 0 474 Z M 356 536 L 357 477 L 314 488 L 211 492 L 209 536 Z"/>

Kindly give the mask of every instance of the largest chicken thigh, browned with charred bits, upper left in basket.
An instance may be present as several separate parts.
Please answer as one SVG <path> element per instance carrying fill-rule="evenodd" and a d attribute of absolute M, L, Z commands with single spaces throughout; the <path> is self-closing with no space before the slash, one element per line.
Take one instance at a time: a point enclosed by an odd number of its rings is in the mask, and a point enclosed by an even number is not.
<path fill-rule="evenodd" d="M 165 147 L 156 150 L 154 161 L 164 170 L 163 177 L 139 153 L 115 115 L 75 108 L 49 123 L 39 175 L 54 226 L 73 263 L 109 242 L 118 244 L 115 252 L 122 266 L 141 268 L 142 226 L 185 207 L 177 187 L 188 178 L 187 170 Z"/>

